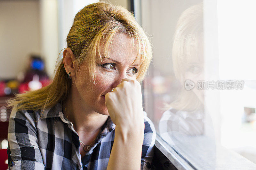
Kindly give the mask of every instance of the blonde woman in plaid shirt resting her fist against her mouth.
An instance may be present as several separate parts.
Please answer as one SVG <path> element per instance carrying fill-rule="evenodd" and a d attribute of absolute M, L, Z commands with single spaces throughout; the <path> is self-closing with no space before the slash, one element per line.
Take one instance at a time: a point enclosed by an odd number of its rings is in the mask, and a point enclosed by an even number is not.
<path fill-rule="evenodd" d="M 140 83 L 151 61 L 147 36 L 119 6 L 76 14 L 51 85 L 10 100 L 12 169 L 148 169 L 155 129 Z"/>

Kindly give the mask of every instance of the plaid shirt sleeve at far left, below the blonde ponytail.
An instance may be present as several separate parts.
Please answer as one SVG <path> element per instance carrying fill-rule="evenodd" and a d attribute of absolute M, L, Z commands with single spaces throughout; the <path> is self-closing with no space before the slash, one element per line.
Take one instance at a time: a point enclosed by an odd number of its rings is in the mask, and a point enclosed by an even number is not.
<path fill-rule="evenodd" d="M 12 109 L 8 127 L 9 169 L 44 169 L 33 113 Z M 35 116 L 34 116 L 35 118 Z"/>

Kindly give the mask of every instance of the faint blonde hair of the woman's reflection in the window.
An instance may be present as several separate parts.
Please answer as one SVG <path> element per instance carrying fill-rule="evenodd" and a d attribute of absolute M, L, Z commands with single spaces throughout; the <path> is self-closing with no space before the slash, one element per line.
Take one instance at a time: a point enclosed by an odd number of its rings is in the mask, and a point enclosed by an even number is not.
<path fill-rule="evenodd" d="M 183 84 L 176 99 L 167 107 L 193 112 L 202 106 L 201 101 L 192 90 L 185 90 L 183 75 L 186 71 L 184 66 L 191 59 L 197 57 L 198 60 L 201 60 L 198 56 L 204 42 L 203 34 L 203 3 L 200 3 L 183 11 L 176 25 L 172 62 L 175 77 Z"/>

